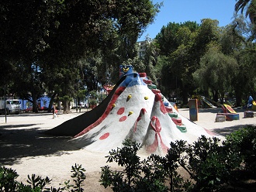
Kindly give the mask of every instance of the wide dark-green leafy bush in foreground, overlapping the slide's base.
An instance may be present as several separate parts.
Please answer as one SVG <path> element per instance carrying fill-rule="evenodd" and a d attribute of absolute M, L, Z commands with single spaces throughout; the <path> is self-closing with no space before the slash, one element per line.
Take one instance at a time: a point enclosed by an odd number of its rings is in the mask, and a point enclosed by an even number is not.
<path fill-rule="evenodd" d="M 123 170 L 102 167 L 101 184 L 113 191 L 215 191 L 227 183 L 239 166 L 237 153 L 220 145 L 220 139 L 202 135 L 192 145 L 171 142 L 166 156 L 151 155 L 140 161 L 139 145 L 126 140 L 123 148 L 109 152 L 108 162 L 116 162 Z M 179 174 L 182 167 L 189 178 Z"/>

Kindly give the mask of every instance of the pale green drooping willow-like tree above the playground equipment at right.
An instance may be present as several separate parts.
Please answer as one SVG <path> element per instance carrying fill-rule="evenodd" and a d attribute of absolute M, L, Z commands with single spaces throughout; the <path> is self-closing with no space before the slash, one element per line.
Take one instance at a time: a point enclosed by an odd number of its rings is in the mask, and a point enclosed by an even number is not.
<path fill-rule="evenodd" d="M 219 46 L 211 44 L 193 77 L 202 90 L 212 91 L 213 100 L 218 101 L 218 98 L 224 98 L 224 94 L 230 91 L 237 73 L 237 61 L 221 53 Z"/>

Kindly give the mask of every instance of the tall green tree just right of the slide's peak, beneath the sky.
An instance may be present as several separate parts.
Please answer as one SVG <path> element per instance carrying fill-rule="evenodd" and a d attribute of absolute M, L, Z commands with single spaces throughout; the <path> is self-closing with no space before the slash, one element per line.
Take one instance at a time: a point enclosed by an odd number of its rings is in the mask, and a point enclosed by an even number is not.
<path fill-rule="evenodd" d="M 165 94 L 178 96 L 181 93 L 185 104 L 189 92 L 192 91 L 191 74 L 198 66 L 195 63 L 195 56 L 198 54 L 192 49 L 198 30 L 199 25 L 196 22 L 169 23 L 156 37 L 161 56 L 168 58 L 161 70 L 161 85 L 170 87 Z M 175 90 L 175 93 L 171 90 Z"/>

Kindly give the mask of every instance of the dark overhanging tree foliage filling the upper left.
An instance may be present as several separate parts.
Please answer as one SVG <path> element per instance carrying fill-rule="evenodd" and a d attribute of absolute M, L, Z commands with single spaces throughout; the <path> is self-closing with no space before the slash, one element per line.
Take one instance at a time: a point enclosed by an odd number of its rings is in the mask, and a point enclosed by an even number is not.
<path fill-rule="evenodd" d="M 78 82 L 88 91 L 112 79 L 115 84 L 119 63 L 136 56 L 138 36 L 154 22 L 161 3 L 16 0 L 1 1 L 0 7 L 0 86 L 36 98 L 44 92 L 74 97 Z"/>

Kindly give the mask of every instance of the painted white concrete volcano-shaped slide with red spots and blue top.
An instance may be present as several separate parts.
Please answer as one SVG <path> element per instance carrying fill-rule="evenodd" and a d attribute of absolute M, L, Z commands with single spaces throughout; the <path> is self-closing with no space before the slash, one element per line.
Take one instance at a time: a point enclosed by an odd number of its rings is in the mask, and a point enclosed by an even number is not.
<path fill-rule="evenodd" d="M 92 111 L 48 130 L 50 135 L 72 135 L 79 148 L 108 153 L 122 147 L 125 139 L 140 143 L 148 154 L 165 155 L 175 140 L 195 142 L 213 132 L 178 113 L 145 73 L 120 66 L 120 80 Z"/>

